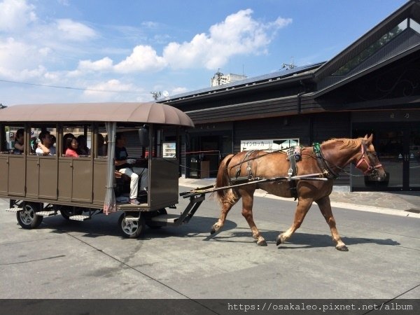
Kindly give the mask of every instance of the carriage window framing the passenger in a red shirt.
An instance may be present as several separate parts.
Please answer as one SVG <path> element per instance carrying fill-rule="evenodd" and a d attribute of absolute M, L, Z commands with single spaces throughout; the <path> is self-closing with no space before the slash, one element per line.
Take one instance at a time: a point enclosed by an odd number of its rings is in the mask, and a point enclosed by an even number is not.
<path fill-rule="evenodd" d="M 63 125 L 61 156 L 90 157 L 92 127 L 90 125 Z"/>

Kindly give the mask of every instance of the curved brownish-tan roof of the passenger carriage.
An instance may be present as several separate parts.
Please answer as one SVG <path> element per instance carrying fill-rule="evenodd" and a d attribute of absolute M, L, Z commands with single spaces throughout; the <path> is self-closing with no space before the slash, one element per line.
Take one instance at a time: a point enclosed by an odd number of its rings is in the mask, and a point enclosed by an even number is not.
<path fill-rule="evenodd" d="M 0 110 L 3 122 L 118 122 L 194 127 L 186 113 L 155 103 L 25 104 Z"/>

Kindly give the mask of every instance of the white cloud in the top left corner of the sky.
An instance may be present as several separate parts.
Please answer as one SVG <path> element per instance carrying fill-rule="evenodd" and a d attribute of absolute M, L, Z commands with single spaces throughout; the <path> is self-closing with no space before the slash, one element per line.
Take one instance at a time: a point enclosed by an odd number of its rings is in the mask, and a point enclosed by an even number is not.
<path fill-rule="evenodd" d="M 0 31 L 18 31 L 36 20 L 35 6 L 25 0 L 0 2 Z"/>

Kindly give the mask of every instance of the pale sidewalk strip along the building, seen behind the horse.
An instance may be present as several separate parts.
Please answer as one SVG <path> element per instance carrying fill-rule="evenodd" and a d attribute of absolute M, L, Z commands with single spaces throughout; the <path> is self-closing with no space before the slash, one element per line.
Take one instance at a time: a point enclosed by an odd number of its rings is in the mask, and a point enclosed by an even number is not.
<path fill-rule="evenodd" d="M 201 188 L 213 185 L 214 182 L 215 179 L 180 178 L 179 186 Z M 264 190 L 256 190 L 255 195 L 293 202 L 293 198 L 269 195 Z M 343 193 L 339 190 L 332 190 L 330 200 L 332 207 L 420 218 L 420 192 Z"/>

